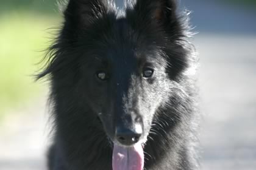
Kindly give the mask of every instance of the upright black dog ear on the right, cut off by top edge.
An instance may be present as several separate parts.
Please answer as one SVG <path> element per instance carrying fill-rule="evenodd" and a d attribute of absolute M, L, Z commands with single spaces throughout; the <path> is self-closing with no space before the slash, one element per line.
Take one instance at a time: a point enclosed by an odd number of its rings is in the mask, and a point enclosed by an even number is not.
<path fill-rule="evenodd" d="M 137 0 L 133 10 L 141 20 L 168 25 L 176 22 L 175 0 Z"/>

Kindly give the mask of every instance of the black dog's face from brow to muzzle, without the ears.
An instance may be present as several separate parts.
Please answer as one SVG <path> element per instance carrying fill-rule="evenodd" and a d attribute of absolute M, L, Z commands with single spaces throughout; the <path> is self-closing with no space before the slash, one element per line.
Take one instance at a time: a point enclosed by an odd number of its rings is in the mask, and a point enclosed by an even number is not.
<path fill-rule="evenodd" d="M 133 42 L 138 35 L 125 34 L 134 31 L 126 20 L 116 22 L 116 27 L 124 22 L 126 29 L 106 31 L 108 38 L 99 34 L 102 38 L 90 41 L 95 43 L 95 49 L 86 49 L 80 58 L 79 88 L 95 116 L 102 121 L 108 137 L 115 143 L 130 145 L 133 141 L 120 141 L 122 133 L 130 131 L 137 138 L 134 141 L 146 141 L 157 108 L 168 101 L 168 61 L 154 43 L 145 41 L 141 46 Z M 116 36 L 119 37 L 113 38 Z"/>

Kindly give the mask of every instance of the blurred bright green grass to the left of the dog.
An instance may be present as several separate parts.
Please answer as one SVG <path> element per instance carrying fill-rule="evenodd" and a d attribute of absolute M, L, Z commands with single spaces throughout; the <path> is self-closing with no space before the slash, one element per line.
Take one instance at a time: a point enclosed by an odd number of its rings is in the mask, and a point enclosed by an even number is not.
<path fill-rule="evenodd" d="M 34 82 L 40 52 L 49 46 L 51 27 L 59 19 L 52 15 L 12 11 L 0 15 L 0 116 L 40 94 L 43 88 Z"/>

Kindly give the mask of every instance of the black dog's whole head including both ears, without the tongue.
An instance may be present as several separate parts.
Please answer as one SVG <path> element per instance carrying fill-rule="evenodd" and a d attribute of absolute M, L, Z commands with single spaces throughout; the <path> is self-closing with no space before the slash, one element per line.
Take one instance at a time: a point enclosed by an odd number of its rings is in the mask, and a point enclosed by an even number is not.
<path fill-rule="evenodd" d="M 79 94 L 79 107 L 90 108 L 114 143 L 144 143 L 186 66 L 182 28 L 172 1 L 138 0 L 119 16 L 104 2 L 69 1 L 57 55 L 43 75 L 63 79 L 62 89 L 75 80 L 64 93 Z"/>

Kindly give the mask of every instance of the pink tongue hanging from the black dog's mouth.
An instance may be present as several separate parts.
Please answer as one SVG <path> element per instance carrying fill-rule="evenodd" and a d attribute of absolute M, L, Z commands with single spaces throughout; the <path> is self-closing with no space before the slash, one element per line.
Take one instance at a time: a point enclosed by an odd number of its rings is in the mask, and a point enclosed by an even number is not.
<path fill-rule="evenodd" d="M 144 153 L 141 144 L 129 148 L 114 144 L 112 166 L 113 170 L 142 170 Z"/>

